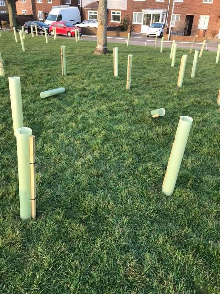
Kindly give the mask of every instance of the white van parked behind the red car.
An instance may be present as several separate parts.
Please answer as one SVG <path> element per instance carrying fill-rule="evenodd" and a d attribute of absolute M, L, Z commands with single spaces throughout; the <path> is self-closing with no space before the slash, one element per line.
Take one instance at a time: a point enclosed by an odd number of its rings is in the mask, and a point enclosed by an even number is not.
<path fill-rule="evenodd" d="M 79 24 L 81 22 L 79 8 L 75 6 L 52 8 L 45 24 L 51 25 L 54 21 L 69 21 L 73 25 Z"/>

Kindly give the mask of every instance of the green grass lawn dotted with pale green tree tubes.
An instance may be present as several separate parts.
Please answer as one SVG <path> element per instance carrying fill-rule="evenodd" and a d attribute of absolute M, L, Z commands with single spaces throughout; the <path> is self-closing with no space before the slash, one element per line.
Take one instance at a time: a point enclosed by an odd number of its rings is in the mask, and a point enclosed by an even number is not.
<path fill-rule="evenodd" d="M 19 36 L 18 36 L 19 37 Z M 61 76 L 66 46 L 67 77 Z M 0 293 L 219 294 L 220 127 L 215 52 L 199 58 L 109 43 L 0 37 Z M 113 47 L 119 77 L 113 77 Z M 133 54 L 131 90 L 127 55 Z M 36 136 L 37 219 L 20 220 L 8 78 L 21 78 L 24 126 Z M 64 87 L 41 99 L 40 92 Z M 152 119 L 159 107 L 166 115 Z M 171 197 L 161 192 L 180 115 L 193 117 Z"/>

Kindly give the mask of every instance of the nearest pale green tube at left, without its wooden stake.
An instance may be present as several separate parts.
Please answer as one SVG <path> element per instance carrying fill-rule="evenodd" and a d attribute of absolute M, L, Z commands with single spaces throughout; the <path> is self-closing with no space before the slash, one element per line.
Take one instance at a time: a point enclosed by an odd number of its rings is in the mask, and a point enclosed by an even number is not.
<path fill-rule="evenodd" d="M 30 178 L 30 151 L 29 137 L 32 134 L 30 128 L 16 130 L 17 159 L 18 159 L 18 183 L 20 199 L 20 218 L 31 218 L 31 178 Z"/>

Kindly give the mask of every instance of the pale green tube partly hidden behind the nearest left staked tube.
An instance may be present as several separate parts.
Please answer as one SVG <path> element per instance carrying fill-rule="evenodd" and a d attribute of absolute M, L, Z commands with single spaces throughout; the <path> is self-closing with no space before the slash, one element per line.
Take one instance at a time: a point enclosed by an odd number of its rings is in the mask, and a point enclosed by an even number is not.
<path fill-rule="evenodd" d="M 11 100 L 13 130 L 16 137 L 16 130 L 24 126 L 21 101 L 20 77 L 9 77 L 9 92 Z"/>

